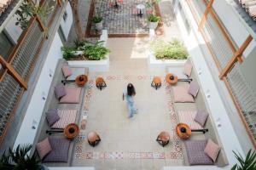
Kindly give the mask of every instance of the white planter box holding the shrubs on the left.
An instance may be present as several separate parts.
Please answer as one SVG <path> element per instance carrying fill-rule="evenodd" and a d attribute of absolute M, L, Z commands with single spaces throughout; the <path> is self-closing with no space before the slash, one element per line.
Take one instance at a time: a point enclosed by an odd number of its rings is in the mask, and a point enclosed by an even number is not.
<path fill-rule="evenodd" d="M 102 36 L 99 41 L 104 41 L 103 46 L 106 47 L 108 41 L 108 31 L 102 30 Z M 76 54 L 82 54 L 77 51 Z M 72 67 L 88 67 L 89 71 L 108 71 L 109 70 L 109 54 L 105 59 L 101 60 L 68 60 L 68 65 Z"/>

